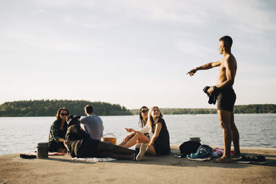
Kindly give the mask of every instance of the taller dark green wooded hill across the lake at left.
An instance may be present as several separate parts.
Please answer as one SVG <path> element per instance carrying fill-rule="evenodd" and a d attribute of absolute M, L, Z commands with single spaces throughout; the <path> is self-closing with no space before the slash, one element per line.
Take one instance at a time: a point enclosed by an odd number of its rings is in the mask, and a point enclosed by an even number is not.
<path fill-rule="evenodd" d="M 84 116 L 86 105 L 94 107 L 99 116 L 132 115 L 130 110 L 118 104 L 91 101 L 35 100 L 12 101 L 0 105 L 0 116 L 55 116 L 59 108 L 66 108 L 70 114 Z"/>

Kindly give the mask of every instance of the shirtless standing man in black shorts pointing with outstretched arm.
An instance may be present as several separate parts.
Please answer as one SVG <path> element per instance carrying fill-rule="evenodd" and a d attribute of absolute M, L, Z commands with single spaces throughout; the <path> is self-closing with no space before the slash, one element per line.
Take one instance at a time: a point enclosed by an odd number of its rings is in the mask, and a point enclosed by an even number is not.
<path fill-rule="evenodd" d="M 231 37 L 224 36 L 219 39 L 219 54 L 224 57 L 217 62 L 201 65 L 187 74 L 193 76 L 197 70 L 208 70 L 219 66 L 219 75 L 217 76 L 217 84 L 208 89 L 208 93 L 217 94 L 217 114 L 224 136 L 224 155 L 217 159 L 216 162 L 230 162 L 231 142 L 234 144 L 234 156 L 241 156 L 239 150 L 239 131 L 234 123 L 233 107 L 236 100 L 236 94 L 233 90 L 233 84 L 237 72 L 237 61 L 231 53 L 233 40 Z"/>

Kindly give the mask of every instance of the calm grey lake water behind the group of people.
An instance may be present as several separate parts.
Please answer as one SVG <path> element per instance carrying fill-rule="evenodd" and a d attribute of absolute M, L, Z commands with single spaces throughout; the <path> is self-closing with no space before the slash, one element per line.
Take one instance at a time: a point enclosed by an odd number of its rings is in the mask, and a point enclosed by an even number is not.
<path fill-rule="evenodd" d="M 104 133 L 117 136 L 119 143 L 128 133 L 124 127 L 137 129 L 139 116 L 101 116 Z M 201 143 L 222 146 L 222 132 L 217 114 L 164 115 L 170 144 L 181 145 L 190 137 Z M 0 117 L 0 154 L 36 150 L 37 142 L 47 142 L 55 117 Z M 276 114 L 235 114 L 241 147 L 276 148 Z"/>

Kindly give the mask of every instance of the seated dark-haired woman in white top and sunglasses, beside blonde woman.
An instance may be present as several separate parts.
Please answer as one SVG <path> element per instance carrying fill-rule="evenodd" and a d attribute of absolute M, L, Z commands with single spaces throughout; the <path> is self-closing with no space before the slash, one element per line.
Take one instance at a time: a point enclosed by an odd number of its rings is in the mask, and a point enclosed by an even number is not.
<path fill-rule="evenodd" d="M 148 108 L 146 106 L 143 106 L 140 108 L 140 112 L 139 112 L 139 123 L 138 123 L 139 130 L 141 130 L 143 127 L 145 127 L 147 121 L 148 121 Z M 137 141 L 135 141 L 135 144 L 132 144 L 132 141 L 137 140 L 137 139 L 139 139 L 139 143 L 149 143 L 150 142 L 150 136 L 149 136 L 148 132 L 141 134 L 141 132 L 137 132 L 137 131 L 134 132 L 131 130 L 133 130 L 133 129 L 126 128 L 126 131 L 131 132 L 131 133 L 128 134 L 126 136 L 126 138 L 123 139 L 123 142 L 121 142 L 119 145 L 121 145 L 123 147 L 131 147 L 132 145 L 135 145 L 137 143 Z"/>

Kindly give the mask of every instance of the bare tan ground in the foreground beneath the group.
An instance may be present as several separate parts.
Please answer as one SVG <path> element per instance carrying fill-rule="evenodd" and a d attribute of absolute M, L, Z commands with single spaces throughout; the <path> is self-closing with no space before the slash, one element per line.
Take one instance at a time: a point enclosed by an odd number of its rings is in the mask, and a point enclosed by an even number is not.
<path fill-rule="evenodd" d="M 0 183 L 276 183 L 276 149 L 242 148 L 262 154 L 266 164 L 213 163 L 168 156 L 144 156 L 140 162 L 72 161 L 70 155 L 21 159 L 19 153 L 0 155 Z"/>

